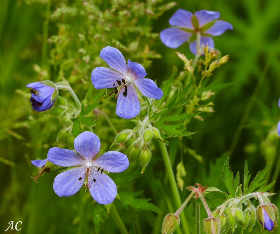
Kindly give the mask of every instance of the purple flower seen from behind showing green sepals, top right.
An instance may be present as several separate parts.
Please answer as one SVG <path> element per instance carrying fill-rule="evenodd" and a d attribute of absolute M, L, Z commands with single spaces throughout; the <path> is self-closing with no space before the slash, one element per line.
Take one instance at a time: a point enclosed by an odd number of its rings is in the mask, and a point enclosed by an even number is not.
<path fill-rule="evenodd" d="M 208 44 L 209 48 L 214 48 L 214 41 L 211 36 L 222 35 L 226 30 L 233 29 L 233 26 L 220 18 L 218 11 L 200 10 L 194 14 L 190 11 L 178 9 L 169 19 L 170 27 L 160 32 L 160 38 L 163 44 L 170 48 L 177 48 L 189 39 L 196 32 L 200 32 L 200 45 Z M 189 49 L 193 54 L 197 54 L 197 41 L 189 43 Z"/>

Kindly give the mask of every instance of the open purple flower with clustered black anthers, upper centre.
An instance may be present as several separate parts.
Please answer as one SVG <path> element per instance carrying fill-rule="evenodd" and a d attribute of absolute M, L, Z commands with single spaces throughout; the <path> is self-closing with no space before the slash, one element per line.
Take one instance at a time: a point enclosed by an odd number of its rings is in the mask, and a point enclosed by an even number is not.
<path fill-rule="evenodd" d="M 163 92 L 156 83 L 144 78 L 145 68 L 130 60 L 125 62 L 122 53 L 107 46 L 99 55 L 110 68 L 97 67 L 91 73 L 91 81 L 96 89 L 115 88 L 117 98 L 116 114 L 122 118 L 133 118 L 140 112 L 140 102 L 136 93 L 137 88 L 144 96 L 161 99 Z M 114 69 L 114 70 L 113 70 Z"/>

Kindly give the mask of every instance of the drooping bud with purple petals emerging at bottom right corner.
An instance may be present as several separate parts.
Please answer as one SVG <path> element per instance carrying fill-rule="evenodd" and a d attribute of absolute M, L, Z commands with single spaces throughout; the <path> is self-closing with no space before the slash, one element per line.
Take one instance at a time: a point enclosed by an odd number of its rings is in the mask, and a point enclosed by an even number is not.
<path fill-rule="evenodd" d="M 257 207 L 257 219 L 259 223 L 268 231 L 271 231 L 273 227 L 277 227 L 275 206 L 272 207 L 270 204 L 263 204 Z"/>

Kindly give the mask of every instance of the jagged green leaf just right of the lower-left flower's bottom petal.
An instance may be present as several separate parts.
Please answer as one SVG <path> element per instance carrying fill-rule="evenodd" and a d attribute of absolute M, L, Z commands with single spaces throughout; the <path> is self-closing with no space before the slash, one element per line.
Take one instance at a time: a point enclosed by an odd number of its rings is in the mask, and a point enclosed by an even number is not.
<path fill-rule="evenodd" d="M 120 196 L 120 202 L 128 209 L 131 206 L 135 210 L 149 210 L 161 214 L 161 210 L 153 203 L 149 202 L 151 199 L 135 198 L 142 194 L 143 191 L 138 192 L 118 192 Z"/>

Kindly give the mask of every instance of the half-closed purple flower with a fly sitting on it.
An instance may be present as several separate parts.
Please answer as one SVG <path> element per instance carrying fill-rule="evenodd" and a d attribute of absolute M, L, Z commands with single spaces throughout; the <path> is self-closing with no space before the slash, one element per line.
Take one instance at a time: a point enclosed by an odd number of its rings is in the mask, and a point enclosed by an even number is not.
<path fill-rule="evenodd" d="M 29 83 L 26 87 L 30 88 L 30 102 L 35 111 L 45 111 L 51 108 L 57 98 L 55 85 L 49 80 Z"/>

